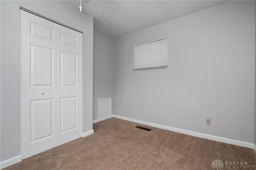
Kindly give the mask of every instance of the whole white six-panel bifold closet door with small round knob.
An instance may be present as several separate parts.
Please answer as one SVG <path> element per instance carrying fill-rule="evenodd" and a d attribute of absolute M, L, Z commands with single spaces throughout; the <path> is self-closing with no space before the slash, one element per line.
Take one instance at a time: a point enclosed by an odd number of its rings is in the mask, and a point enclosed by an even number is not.
<path fill-rule="evenodd" d="M 82 33 L 20 10 L 21 155 L 82 137 Z"/>

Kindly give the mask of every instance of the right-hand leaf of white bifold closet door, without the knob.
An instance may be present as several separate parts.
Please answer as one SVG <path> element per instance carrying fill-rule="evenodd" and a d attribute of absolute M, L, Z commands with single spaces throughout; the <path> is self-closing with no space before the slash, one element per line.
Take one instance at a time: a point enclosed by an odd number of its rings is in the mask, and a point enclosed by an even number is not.
<path fill-rule="evenodd" d="M 57 57 L 58 117 L 63 141 L 82 135 L 82 33 L 60 27 Z"/>

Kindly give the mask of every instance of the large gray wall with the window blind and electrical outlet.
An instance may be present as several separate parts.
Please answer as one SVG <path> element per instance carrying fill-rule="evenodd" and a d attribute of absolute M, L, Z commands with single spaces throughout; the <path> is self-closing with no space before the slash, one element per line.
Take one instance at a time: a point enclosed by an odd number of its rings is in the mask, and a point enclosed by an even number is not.
<path fill-rule="evenodd" d="M 231 1 L 114 39 L 114 114 L 253 143 L 254 12 Z M 168 68 L 134 71 L 133 45 L 162 37 Z"/>

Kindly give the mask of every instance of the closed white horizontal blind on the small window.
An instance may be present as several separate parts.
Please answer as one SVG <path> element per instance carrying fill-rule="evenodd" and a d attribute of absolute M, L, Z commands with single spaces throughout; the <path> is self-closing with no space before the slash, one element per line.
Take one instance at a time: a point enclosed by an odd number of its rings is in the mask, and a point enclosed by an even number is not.
<path fill-rule="evenodd" d="M 133 70 L 166 68 L 168 66 L 167 37 L 133 46 Z"/>

